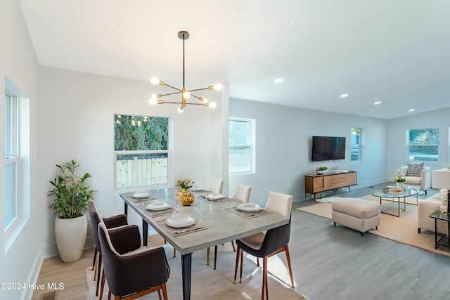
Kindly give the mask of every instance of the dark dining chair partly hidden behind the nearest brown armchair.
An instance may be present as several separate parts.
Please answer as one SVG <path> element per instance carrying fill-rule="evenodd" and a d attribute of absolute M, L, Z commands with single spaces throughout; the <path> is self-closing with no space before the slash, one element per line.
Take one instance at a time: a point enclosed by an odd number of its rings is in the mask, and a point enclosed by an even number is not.
<path fill-rule="evenodd" d="M 97 280 L 96 287 L 96 296 L 98 296 L 98 287 L 100 285 L 100 273 L 101 273 L 101 247 L 100 241 L 98 240 L 98 224 L 103 222 L 105 223 L 106 228 L 115 228 L 119 226 L 128 225 L 127 216 L 124 214 L 118 214 L 117 216 L 111 216 L 110 218 L 101 218 L 98 213 L 94 201 L 89 200 L 87 202 L 89 209 L 89 218 L 91 219 L 91 227 L 92 227 L 92 237 L 94 238 L 94 261 L 92 261 L 92 270 L 94 270 L 94 281 Z M 98 253 L 98 263 L 96 264 L 96 258 Z"/>

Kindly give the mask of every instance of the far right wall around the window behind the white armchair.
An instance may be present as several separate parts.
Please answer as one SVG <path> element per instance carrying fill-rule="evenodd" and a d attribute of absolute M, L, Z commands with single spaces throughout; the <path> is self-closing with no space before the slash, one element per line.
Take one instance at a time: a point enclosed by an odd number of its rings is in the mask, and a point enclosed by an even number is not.
<path fill-rule="evenodd" d="M 390 149 L 387 160 L 387 176 L 393 181 L 397 168 L 408 164 L 408 153 L 406 143 L 408 139 L 408 129 L 439 128 L 439 162 L 425 162 L 425 167 L 431 170 L 450 167 L 449 162 L 449 127 L 450 127 L 450 107 L 431 112 L 423 112 L 390 119 L 387 122 L 389 132 L 387 147 Z"/>

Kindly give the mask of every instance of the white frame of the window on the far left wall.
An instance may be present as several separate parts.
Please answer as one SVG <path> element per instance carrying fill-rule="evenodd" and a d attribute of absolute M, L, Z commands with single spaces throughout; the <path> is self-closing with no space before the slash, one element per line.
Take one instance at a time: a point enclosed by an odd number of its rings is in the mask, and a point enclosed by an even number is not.
<path fill-rule="evenodd" d="M 15 148 L 14 156 L 4 157 L 4 167 L 15 164 L 15 212 L 16 216 L 5 226 L 4 252 L 8 252 L 12 244 L 25 228 L 30 219 L 30 98 L 20 91 L 17 86 L 5 77 L 5 97 L 13 97 L 15 100 L 15 117 L 13 123 L 13 136 L 15 141 L 11 147 Z M 6 101 L 6 99 L 5 99 Z M 6 129 L 5 129 L 6 130 Z M 6 138 L 6 136 L 5 136 Z M 6 174 L 5 174 L 6 175 Z M 5 187 L 6 190 L 6 187 Z M 5 191 L 3 192 L 5 193 Z M 5 203 L 2 203 L 5 205 Z"/>

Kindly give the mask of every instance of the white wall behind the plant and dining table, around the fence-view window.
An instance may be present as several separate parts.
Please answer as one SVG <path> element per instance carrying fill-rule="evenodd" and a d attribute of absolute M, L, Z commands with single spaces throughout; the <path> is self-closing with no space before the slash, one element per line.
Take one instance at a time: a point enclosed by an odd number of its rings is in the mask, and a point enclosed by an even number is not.
<path fill-rule="evenodd" d="M 51 188 L 48 181 L 56 175 L 55 164 L 75 159 L 81 171 L 92 176 L 91 187 L 97 191 L 94 200 L 101 213 L 122 213 L 118 193 L 124 190 L 114 190 L 114 114 L 172 117 L 174 181 L 191 178 L 207 186 L 212 176 L 223 177 L 221 107 L 228 107 L 227 102 L 217 101 L 215 110 L 187 106 L 179 114 L 176 105 L 148 105 L 153 86 L 146 82 L 49 67 L 41 67 L 39 75 L 43 99 L 39 106 L 39 202 L 50 204 L 46 194 Z M 48 246 L 46 253 L 51 253 L 55 249 L 53 210 L 47 209 L 44 215 L 48 230 L 43 243 Z M 141 223 L 132 211 L 129 222 Z"/>

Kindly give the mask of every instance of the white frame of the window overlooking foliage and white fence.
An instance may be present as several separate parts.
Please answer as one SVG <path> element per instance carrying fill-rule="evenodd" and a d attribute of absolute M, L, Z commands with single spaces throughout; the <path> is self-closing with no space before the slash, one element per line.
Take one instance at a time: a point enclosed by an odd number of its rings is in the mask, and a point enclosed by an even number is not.
<path fill-rule="evenodd" d="M 114 114 L 114 115 L 127 115 L 127 114 Z M 129 115 L 131 116 L 131 115 Z M 154 118 L 164 118 L 164 119 L 168 119 L 168 131 L 169 131 L 169 136 L 168 136 L 168 145 L 167 145 L 167 150 L 129 150 L 129 151 L 120 151 L 120 150 L 115 150 L 114 151 L 114 188 L 115 191 L 120 190 L 121 193 L 126 193 L 127 191 L 131 191 L 131 190 L 136 190 L 136 189 L 140 189 L 140 188 L 168 188 L 169 186 L 172 185 L 173 183 L 173 168 L 172 168 L 172 163 L 173 163 L 173 159 L 172 159 L 172 136 L 173 136 L 173 125 L 172 125 L 172 118 L 171 117 L 155 117 L 155 116 L 149 116 L 149 117 L 154 117 Z M 167 154 L 167 182 L 166 183 L 155 183 L 155 184 L 143 184 L 141 179 L 138 179 L 138 182 L 141 183 L 138 185 L 129 185 L 126 187 L 119 187 L 117 186 L 117 155 L 147 155 L 147 154 Z"/>

